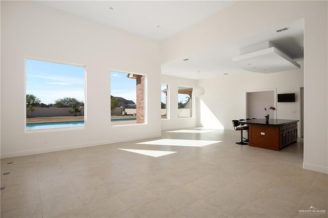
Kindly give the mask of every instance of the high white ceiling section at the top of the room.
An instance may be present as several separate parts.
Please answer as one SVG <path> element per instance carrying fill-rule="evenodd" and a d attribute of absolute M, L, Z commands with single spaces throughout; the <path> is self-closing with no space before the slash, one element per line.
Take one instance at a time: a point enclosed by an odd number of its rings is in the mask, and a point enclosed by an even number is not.
<path fill-rule="evenodd" d="M 156 41 L 172 36 L 234 3 L 233 1 L 38 2 Z"/>

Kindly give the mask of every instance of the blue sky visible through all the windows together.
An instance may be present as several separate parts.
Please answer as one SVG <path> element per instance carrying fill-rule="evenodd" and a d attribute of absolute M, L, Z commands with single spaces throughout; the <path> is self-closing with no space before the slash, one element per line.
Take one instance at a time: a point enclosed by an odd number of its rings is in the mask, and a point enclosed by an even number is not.
<path fill-rule="evenodd" d="M 127 73 L 111 71 L 111 95 L 136 103 L 136 80 Z M 26 59 L 26 94 L 33 94 L 42 103 L 55 103 L 59 98 L 71 97 L 85 102 L 85 68 L 69 64 Z M 161 84 L 161 90 L 165 89 Z M 179 96 L 179 101 L 186 101 Z M 161 93 L 165 102 L 165 94 Z"/>

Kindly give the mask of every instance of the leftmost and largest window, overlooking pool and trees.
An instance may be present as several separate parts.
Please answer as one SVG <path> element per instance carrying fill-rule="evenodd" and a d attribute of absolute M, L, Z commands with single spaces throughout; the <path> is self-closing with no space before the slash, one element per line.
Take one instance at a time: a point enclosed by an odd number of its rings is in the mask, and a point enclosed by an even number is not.
<path fill-rule="evenodd" d="M 83 127 L 85 67 L 25 60 L 26 129 Z"/>

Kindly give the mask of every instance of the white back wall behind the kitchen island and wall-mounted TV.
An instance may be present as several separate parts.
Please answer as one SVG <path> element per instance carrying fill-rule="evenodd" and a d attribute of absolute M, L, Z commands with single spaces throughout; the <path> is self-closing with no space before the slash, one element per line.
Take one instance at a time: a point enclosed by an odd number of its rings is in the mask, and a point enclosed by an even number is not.
<path fill-rule="evenodd" d="M 272 74 L 229 74 L 217 78 L 200 80 L 198 81 L 198 85 L 205 88 L 205 95 L 201 97 L 203 106 L 200 107 L 198 125 L 210 127 L 208 123 L 213 122 L 211 121 L 213 117 L 209 117 L 209 120 L 204 119 L 204 117 L 208 117 L 207 111 L 209 108 L 215 118 L 222 124 L 222 128 L 233 129 L 231 120 L 247 118 L 247 92 L 269 89 L 277 90 L 277 93 L 293 92 L 298 96 L 298 87 L 303 85 L 303 69 Z M 276 118 L 297 120 L 299 113 L 298 103 L 298 100 L 296 102 L 289 102 L 288 105 L 277 103 Z M 264 118 L 266 115 L 264 108 L 261 105 L 259 107 L 262 117 L 258 115 L 255 118 Z M 203 111 L 205 112 L 203 113 Z M 296 113 L 290 113 L 290 111 L 296 111 Z"/>

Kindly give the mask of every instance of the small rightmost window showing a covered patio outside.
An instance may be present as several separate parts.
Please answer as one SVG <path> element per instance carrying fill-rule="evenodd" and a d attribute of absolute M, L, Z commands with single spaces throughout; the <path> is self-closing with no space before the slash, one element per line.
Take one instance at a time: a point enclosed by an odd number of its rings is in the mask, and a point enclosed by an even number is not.
<path fill-rule="evenodd" d="M 178 86 L 178 118 L 192 117 L 193 113 L 193 88 L 190 86 Z"/>

